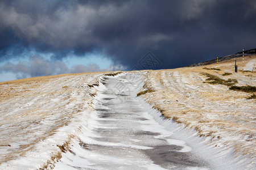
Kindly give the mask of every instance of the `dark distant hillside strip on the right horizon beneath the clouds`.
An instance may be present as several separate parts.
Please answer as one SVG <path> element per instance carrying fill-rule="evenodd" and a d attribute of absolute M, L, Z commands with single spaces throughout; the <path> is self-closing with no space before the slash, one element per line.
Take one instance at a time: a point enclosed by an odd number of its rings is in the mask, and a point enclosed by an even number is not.
<path fill-rule="evenodd" d="M 256 48 L 255 49 L 246 50 L 244 52 L 238 52 L 236 54 L 232 54 L 232 55 L 229 55 L 229 56 L 219 57 L 218 61 L 224 61 L 224 60 L 227 60 L 227 59 L 241 57 L 243 53 L 244 53 L 244 56 L 249 56 L 251 54 L 256 54 Z M 212 60 L 209 60 L 209 61 L 195 63 L 195 64 L 189 65 L 187 67 L 204 66 L 204 65 L 209 65 L 209 64 L 214 63 L 214 62 L 216 62 L 216 58 L 214 58 Z"/>

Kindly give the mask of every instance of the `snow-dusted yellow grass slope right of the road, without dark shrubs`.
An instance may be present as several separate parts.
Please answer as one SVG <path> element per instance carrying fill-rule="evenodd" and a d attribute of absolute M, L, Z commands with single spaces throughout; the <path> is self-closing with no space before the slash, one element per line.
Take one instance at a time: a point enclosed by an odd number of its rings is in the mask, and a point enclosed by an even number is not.
<path fill-rule="evenodd" d="M 238 73 L 234 73 L 234 59 L 237 59 Z M 184 67 L 172 70 L 147 71 L 146 86 L 150 89 L 142 97 L 165 117 L 195 129 L 198 135 L 208 139 L 209 145 L 226 147 L 237 156 L 246 155 L 249 166 L 255 168 L 256 154 L 256 102 L 246 99 L 251 93 L 232 91 L 221 84 L 203 83 L 207 76 L 216 75 L 222 79 L 236 79 L 236 86 L 256 86 L 254 71 L 242 72 L 242 57 L 200 67 Z M 245 70 L 253 70 L 255 56 L 245 57 Z M 203 69 L 208 67 L 208 69 Z M 223 76 L 224 73 L 232 73 Z M 254 93 L 255 94 L 255 93 Z"/>

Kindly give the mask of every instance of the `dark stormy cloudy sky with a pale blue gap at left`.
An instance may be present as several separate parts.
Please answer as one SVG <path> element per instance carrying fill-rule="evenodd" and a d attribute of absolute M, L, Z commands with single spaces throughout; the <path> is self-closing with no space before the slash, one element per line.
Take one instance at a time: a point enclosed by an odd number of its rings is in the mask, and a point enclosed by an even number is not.
<path fill-rule="evenodd" d="M 256 48 L 256 1 L 0 1 L 0 81 L 169 69 Z"/>

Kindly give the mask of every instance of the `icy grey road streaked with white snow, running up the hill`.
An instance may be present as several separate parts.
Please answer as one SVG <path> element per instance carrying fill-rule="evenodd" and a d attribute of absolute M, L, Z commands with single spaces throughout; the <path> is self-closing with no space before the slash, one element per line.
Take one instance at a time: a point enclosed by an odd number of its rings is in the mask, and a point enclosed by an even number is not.
<path fill-rule="evenodd" d="M 142 74 L 102 76 L 96 111 L 55 169 L 212 169 L 159 124 L 161 114 L 137 97 L 142 86 Z"/>

